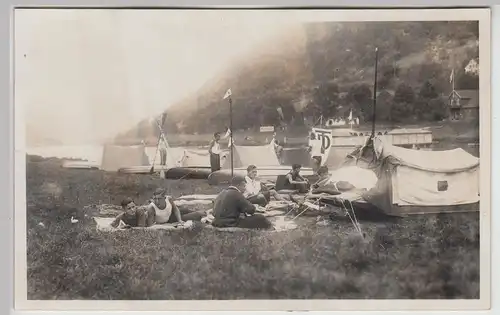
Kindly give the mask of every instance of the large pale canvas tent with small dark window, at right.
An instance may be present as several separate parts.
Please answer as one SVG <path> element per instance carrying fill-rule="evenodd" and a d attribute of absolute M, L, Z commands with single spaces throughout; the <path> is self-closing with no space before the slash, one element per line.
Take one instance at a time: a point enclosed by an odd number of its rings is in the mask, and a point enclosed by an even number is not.
<path fill-rule="evenodd" d="M 411 150 L 375 138 L 350 160 L 375 172 L 362 197 L 387 214 L 479 210 L 479 159 L 463 149 Z"/>

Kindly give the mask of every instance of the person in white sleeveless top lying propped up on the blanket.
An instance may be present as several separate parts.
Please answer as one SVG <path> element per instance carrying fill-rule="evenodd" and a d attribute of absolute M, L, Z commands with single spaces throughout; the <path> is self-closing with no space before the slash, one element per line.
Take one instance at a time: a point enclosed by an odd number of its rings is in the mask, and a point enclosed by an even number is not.
<path fill-rule="evenodd" d="M 163 188 L 156 189 L 153 200 L 147 207 L 150 212 L 154 211 L 156 224 L 182 224 L 185 221 L 201 221 L 205 216 L 204 212 L 181 212 L 174 203 L 174 198 L 167 196 Z"/>

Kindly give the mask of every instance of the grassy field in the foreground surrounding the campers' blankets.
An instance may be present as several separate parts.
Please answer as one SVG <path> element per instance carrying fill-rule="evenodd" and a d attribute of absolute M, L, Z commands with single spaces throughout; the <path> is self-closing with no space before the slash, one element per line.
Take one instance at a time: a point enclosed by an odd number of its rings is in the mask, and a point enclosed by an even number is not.
<path fill-rule="evenodd" d="M 280 233 L 106 233 L 83 210 L 124 196 L 142 203 L 160 186 L 173 196 L 221 189 L 28 159 L 28 298 L 479 297 L 478 213 L 362 221 L 363 240 L 348 221 L 319 226 L 315 217 Z"/>

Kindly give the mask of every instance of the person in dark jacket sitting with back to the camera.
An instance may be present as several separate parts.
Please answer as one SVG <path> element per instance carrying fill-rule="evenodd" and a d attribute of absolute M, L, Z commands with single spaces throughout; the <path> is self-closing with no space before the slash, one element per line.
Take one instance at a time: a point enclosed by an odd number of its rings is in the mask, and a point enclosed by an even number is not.
<path fill-rule="evenodd" d="M 272 228 L 271 222 L 265 216 L 255 214 L 255 205 L 243 196 L 241 191 L 245 189 L 245 186 L 245 179 L 234 177 L 231 180 L 231 186 L 215 198 L 212 226 L 247 229 Z"/>

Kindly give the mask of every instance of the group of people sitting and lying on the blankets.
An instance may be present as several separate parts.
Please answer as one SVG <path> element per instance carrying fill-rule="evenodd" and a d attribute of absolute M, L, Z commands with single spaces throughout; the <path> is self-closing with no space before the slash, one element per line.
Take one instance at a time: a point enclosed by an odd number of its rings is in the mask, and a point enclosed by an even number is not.
<path fill-rule="evenodd" d="M 328 179 L 328 168 L 325 166 L 318 170 L 319 180 L 311 185 L 300 174 L 301 165 L 293 165 L 291 171 L 285 175 L 285 182 L 281 189 L 292 193 L 317 193 L 324 189 Z M 289 201 L 287 196 L 280 195 L 275 188 L 268 188 L 258 179 L 258 168 L 250 165 L 247 175 L 234 177 L 229 187 L 221 191 L 213 202 L 212 215 L 214 227 L 240 227 L 253 229 L 270 229 L 271 222 L 262 214 L 257 213 L 258 207 L 265 207 L 271 199 Z M 135 204 L 131 198 L 121 202 L 123 212 L 111 223 L 118 227 L 120 222 L 130 227 L 150 227 L 155 224 L 183 224 L 185 221 L 201 221 L 206 213 L 204 211 L 181 211 L 168 196 L 166 191 L 158 188 L 152 200 L 143 206 Z"/>

